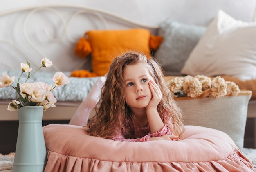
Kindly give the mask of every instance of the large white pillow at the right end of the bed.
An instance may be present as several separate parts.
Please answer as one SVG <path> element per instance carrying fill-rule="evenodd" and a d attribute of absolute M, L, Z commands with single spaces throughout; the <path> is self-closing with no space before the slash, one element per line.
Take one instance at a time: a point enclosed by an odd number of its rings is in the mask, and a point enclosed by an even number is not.
<path fill-rule="evenodd" d="M 218 11 L 181 72 L 191 76 L 256 79 L 256 22 L 235 20 Z"/>

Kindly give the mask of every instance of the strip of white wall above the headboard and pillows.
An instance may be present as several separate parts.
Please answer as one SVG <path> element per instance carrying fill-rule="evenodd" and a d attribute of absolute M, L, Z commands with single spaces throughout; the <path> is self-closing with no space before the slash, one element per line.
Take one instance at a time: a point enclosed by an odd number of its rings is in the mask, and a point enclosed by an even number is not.
<path fill-rule="evenodd" d="M 167 17 L 207 25 L 218 9 L 238 20 L 252 21 L 256 0 L 1 0 L 0 11 L 49 4 L 99 8 L 153 26 Z"/>

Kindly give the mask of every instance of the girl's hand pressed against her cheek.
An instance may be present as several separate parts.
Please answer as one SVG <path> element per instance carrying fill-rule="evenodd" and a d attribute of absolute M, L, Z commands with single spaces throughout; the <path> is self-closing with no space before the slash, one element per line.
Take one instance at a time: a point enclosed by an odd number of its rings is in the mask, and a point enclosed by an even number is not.
<path fill-rule="evenodd" d="M 158 85 L 155 83 L 155 81 L 150 80 L 149 83 L 149 89 L 152 93 L 152 99 L 150 100 L 150 102 L 148 103 L 147 108 L 157 108 L 157 105 L 159 104 L 159 102 L 162 99 L 162 91 L 160 90 L 160 88 L 158 87 Z"/>

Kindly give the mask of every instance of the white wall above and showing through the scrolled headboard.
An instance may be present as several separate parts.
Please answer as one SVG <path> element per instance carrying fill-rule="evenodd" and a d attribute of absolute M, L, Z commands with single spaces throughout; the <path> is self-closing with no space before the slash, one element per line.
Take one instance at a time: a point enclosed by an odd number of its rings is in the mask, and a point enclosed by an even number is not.
<path fill-rule="evenodd" d="M 19 8 L 53 4 L 93 7 L 115 13 L 140 24 L 157 27 L 167 18 L 187 24 L 207 26 L 217 15 L 219 9 L 237 20 L 250 22 L 254 16 L 256 0 L 0 0 L 0 41 L 7 39 L 18 44 L 31 61 L 38 61 L 42 56 L 48 57 L 58 65 L 59 69 L 72 70 L 82 61 L 74 55 L 75 44 L 70 44 L 65 38 L 58 43 L 49 43 L 42 32 L 45 29 L 52 37 L 60 37 L 64 27 L 56 15 L 37 13 L 29 18 L 25 27 L 29 39 L 36 45 L 41 55 L 32 50 L 28 41 L 22 37 L 22 21 L 26 16 L 25 12 L 4 15 L 7 11 L 15 11 Z M 63 14 L 64 20 L 68 17 L 66 13 Z M 94 19 L 90 21 L 90 24 L 85 24 L 85 17 L 79 17 L 81 20 L 76 20 L 78 22 L 70 24 L 68 28 L 71 37 L 76 41 L 83 36 L 86 30 L 102 28 L 94 27 Z M 127 27 L 123 25 L 125 24 L 117 25 L 112 21 L 110 29 Z M 6 65 L 18 69 L 20 60 L 24 63 L 24 56 L 8 44 L 0 44 L 0 52 L 0 70 L 10 68 L 5 67 Z M 16 63 L 14 64 L 13 61 Z M 2 63 L 5 65 L 1 65 Z"/>

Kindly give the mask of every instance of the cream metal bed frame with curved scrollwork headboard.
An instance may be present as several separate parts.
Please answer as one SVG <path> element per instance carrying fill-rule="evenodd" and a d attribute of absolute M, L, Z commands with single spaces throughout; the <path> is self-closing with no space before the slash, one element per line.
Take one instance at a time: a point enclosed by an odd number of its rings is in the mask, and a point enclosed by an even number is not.
<path fill-rule="evenodd" d="M 17 17 L 20 20 L 16 20 Z M 1 29 L 11 30 L 9 37 L 6 38 L 4 32 L 0 33 L 0 52 L 2 53 L 0 71 L 19 69 L 20 63 L 25 63 L 26 59 L 31 63 L 31 67 L 38 68 L 43 57 L 53 62 L 52 67 L 43 70 L 55 72 L 90 70 L 90 59 L 79 59 L 73 53 L 76 42 L 86 30 L 140 27 L 156 32 L 158 28 L 158 26 L 140 24 L 101 9 L 74 5 L 33 6 L 0 13 L 0 20 L 4 22 L 8 23 L 10 18 L 15 21 L 13 25 L 3 25 Z M 85 24 L 81 24 L 81 21 Z M 109 26 L 109 23 L 112 23 L 112 26 Z M 79 28 L 73 24 L 79 25 Z M 93 24 L 93 27 L 88 27 L 88 24 Z M 17 27 L 18 30 L 11 29 Z M 12 38 L 11 34 L 17 34 L 18 37 Z M 7 111 L 9 102 L 11 100 L 0 100 L 0 109 L 2 109 L 0 120 L 2 121 L 18 120 L 16 113 Z M 44 112 L 43 120 L 70 120 L 80 103 L 57 102 L 57 108 L 49 108 Z"/>

